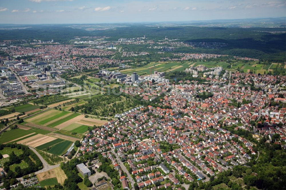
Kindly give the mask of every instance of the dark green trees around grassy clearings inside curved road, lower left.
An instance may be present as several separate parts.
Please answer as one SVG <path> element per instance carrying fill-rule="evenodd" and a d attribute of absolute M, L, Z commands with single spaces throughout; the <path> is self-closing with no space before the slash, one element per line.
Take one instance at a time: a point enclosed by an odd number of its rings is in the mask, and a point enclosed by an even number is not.
<path fill-rule="evenodd" d="M 12 153 L 9 155 L 9 161 L 7 161 L 3 164 L 4 170 L 7 172 L 5 179 L 22 177 L 23 175 L 33 173 L 33 172 L 38 171 L 38 170 L 43 168 L 43 163 L 41 162 L 39 157 L 31 149 L 29 149 L 29 147 L 27 147 L 25 145 L 21 145 L 21 144 L 18 144 L 18 145 L 1 144 L 0 150 L 2 150 L 4 147 L 17 148 L 17 149 L 21 149 L 23 151 L 23 153 L 21 155 L 15 155 L 15 153 L 12 151 Z M 30 157 L 36 163 L 34 163 L 30 159 Z M 9 166 L 11 166 L 13 164 L 19 164 L 19 163 L 21 163 L 22 160 L 28 164 L 28 167 L 21 168 L 19 166 L 16 166 L 15 172 L 10 169 Z"/>

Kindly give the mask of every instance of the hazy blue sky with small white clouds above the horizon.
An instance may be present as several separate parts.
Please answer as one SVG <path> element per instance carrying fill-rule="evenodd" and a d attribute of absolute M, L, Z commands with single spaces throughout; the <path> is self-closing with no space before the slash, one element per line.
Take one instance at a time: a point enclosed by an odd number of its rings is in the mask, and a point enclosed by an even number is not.
<path fill-rule="evenodd" d="M 0 23 L 128 23 L 286 16 L 285 0 L 0 0 Z"/>

